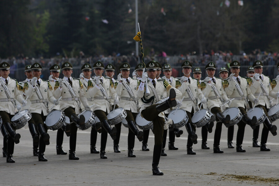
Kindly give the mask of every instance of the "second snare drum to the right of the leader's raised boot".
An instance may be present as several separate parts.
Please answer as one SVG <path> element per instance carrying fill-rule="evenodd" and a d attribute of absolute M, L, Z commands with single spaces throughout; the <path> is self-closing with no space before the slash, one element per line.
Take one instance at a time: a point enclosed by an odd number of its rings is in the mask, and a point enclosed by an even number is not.
<path fill-rule="evenodd" d="M 201 109 L 194 113 L 192 117 L 192 123 L 197 128 L 205 126 L 206 123 L 210 122 L 211 113 L 208 109 Z"/>

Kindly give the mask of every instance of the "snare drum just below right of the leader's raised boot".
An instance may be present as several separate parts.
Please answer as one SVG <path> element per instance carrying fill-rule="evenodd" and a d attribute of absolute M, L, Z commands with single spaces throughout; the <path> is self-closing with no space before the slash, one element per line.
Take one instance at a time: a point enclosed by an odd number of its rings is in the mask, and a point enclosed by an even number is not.
<path fill-rule="evenodd" d="M 172 110 L 169 115 L 168 119 L 171 119 L 173 121 L 173 127 L 174 128 L 180 128 L 188 122 L 188 116 L 185 110 L 182 109 L 175 109 Z"/>

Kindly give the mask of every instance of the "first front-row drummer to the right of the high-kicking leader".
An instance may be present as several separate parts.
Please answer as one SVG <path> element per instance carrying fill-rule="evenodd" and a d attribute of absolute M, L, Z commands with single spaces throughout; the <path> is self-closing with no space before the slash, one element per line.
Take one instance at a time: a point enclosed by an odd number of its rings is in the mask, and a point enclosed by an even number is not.
<path fill-rule="evenodd" d="M 180 109 L 185 110 L 189 118 L 185 125 L 188 132 L 187 154 L 195 155 L 196 153 L 193 151 L 192 146 L 193 144 L 197 144 L 197 134 L 195 134 L 196 127 L 192 123 L 192 117 L 198 110 L 197 105 L 199 103 L 197 102 L 197 98 L 201 100 L 201 103 L 206 103 L 206 98 L 204 98 L 201 89 L 198 87 L 197 79 L 190 77 L 192 72 L 191 62 L 188 60 L 184 61 L 181 68 L 184 76 L 181 77 L 181 81 L 176 81 L 176 87 L 182 93 L 181 98 L 184 97 Z M 193 98 L 188 94 L 188 90 L 192 92 Z"/>

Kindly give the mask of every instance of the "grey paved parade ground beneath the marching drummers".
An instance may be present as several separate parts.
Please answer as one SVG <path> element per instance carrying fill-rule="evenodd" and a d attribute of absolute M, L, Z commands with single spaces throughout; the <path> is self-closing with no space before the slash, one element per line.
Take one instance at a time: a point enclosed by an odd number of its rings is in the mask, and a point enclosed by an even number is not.
<path fill-rule="evenodd" d="M 278 121 L 274 122 L 278 126 Z M 262 124 L 260 128 L 261 135 Z M 252 147 L 252 129 L 246 126 L 243 148 L 246 153 L 236 153 L 227 148 L 227 129 L 223 126 L 220 148 L 223 154 L 213 153 L 214 132 L 208 135 L 210 150 L 201 149 L 201 128 L 197 129 L 197 155 L 187 155 L 186 129 L 175 145 L 179 150 L 166 150 L 161 157 L 163 176 L 153 176 L 151 171 L 154 136 L 149 136 L 149 152 L 141 151 L 141 142 L 135 142 L 135 155 L 127 157 L 127 128 L 122 126 L 121 153 L 113 152 L 113 140 L 108 138 L 106 154 L 90 154 L 90 130 L 78 131 L 76 154 L 78 161 L 68 155 L 56 155 L 56 131 L 49 131 L 51 144 L 45 157 L 48 162 L 38 162 L 32 155 L 32 139 L 28 126 L 18 130 L 20 143 L 15 145 L 15 163 L 6 163 L 0 157 L 0 185 L 279 185 L 279 135 L 268 137 L 270 152 L 260 152 Z M 237 126 L 235 126 L 235 144 Z M 260 136 L 259 135 L 259 136 Z M 2 135 L 0 137 L 2 141 Z M 168 141 L 168 139 L 167 139 Z M 260 141 L 260 140 L 259 140 Z M 69 138 L 64 135 L 63 147 L 69 148 Z M 100 148 L 98 134 L 97 148 Z"/>

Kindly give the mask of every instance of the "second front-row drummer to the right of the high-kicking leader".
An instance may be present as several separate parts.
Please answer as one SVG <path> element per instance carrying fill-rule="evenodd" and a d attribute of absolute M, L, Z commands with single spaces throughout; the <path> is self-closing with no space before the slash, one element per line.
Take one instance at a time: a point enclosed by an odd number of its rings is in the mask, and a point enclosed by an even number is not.
<path fill-rule="evenodd" d="M 222 86 L 222 79 L 215 78 L 216 66 L 214 63 L 210 62 L 206 65 L 207 77 L 204 79 L 204 83 L 201 84 L 201 90 L 205 97 L 207 97 L 207 106 L 211 113 L 216 116 L 216 128 L 214 134 L 214 144 L 213 152 L 214 153 L 224 153 L 219 147 L 220 138 L 222 132 L 222 123 L 225 125 L 230 122 L 230 115 L 224 116 L 222 114 L 220 106 L 225 102 L 228 102 L 228 97 Z"/>

